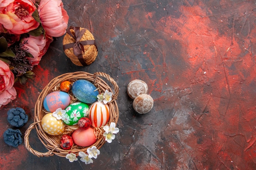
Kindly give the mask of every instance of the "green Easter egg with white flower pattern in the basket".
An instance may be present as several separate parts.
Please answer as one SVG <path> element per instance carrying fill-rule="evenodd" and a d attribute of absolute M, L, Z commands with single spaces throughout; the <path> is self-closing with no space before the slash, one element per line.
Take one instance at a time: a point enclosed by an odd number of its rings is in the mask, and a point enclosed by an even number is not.
<path fill-rule="evenodd" d="M 74 102 L 65 109 L 63 122 L 68 126 L 76 125 L 81 117 L 88 115 L 89 106 L 83 102 Z"/>

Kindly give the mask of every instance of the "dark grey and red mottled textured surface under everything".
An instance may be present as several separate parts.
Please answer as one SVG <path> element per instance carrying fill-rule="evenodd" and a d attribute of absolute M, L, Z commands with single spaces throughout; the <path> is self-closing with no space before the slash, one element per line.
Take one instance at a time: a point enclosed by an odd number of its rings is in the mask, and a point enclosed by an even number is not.
<path fill-rule="evenodd" d="M 69 26 L 88 28 L 99 54 L 75 66 L 56 38 L 34 68 L 36 78 L 16 84 L 17 99 L 0 114 L 2 170 L 255 170 L 256 2 L 254 0 L 63 0 Z M 94 163 L 38 158 L 24 142 L 13 148 L 2 134 L 12 128 L 10 108 L 21 107 L 33 123 L 43 87 L 67 72 L 109 74 L 119 85 L 118 128 Z M 141 79 L 153 109 L 136 114 L 126 93 Z M 32 131 L 30 145 L 47 151 Z"/>

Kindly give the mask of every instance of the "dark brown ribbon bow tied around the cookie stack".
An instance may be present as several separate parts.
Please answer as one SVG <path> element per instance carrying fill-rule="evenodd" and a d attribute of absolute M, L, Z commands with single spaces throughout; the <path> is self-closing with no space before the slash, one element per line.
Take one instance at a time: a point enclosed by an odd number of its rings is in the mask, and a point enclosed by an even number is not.
<path fill-rule="evenodd" d="M 70 32 L 70 29 L 74 30 L 74 35 L 72 35 L 72 33 Z M 81 29 L 80 31 L 80 27 L 75 27 L 75 26 L 70 26 L 70 29 L 67 29 L 67 33 L 75 39 L 75 42 L 72 42 L 70 44 L 65 44 L 63 45 L 63 49 L 70 49 L 73 47 L 73 52 L 74 55 L 76 55 L 78 57 L 79 62 L 81 62 L 81 64 L 83 66 L 86 66 L 87 64 L 85 63 L 85 61 L 83 60 L 83 54 L 82 52 L 84 52 L 84 45 L 96 45 L 95 44 L 95 40 L 85 40 L 85 41 L 80 41 L 81 38 L 83 37 L 83 34 L 85 33 L 85 31 L 87 29 Z"/>

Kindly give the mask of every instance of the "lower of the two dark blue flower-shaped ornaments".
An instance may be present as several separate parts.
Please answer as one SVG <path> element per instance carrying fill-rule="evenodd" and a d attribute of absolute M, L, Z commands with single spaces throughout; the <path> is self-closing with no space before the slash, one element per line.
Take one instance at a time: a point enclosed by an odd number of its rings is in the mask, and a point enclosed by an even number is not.
<path fill-rule="evenodd" d="M 17 147 L 22 143 L 21 135 L 22 134 L 20 130 L 14 130 L 9 128 L 4 132 L 4 142 L 7 145 Z"/>

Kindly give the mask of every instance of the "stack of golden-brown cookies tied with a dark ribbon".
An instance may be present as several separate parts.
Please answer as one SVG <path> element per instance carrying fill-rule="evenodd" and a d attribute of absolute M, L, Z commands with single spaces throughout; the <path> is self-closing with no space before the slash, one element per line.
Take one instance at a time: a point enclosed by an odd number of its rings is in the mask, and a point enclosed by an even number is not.
<path fill-rule="evenodd" d="M 81 29 L 84 29 L 84 28 L 80 27 L 80 30 Z M 70 32 L 74 36 L 74 29 L 71 28 Z M 79 42 L 82 42 L 85 40 L 95 40 L 94 36 L 88 29 L 86 29 L 85 33 L 83 34 L 83 36 L 79 40 Z M 75 42 L 75 39 L 72 38 L 68 33 L 66 33 L 63 38 L 63 45 L 74 43 L 74 42 Z M 72 63 L 76 64 L 77 66 L 84 66 L 84 65 L 92 64 L 92 62 L 94 62 L 94 60 L 96 59 L 96 57 L 98 55 L 97 46 L 95 44 L 84 45 L 83 48 L 84 48 L 84 52 L 82 52 L 82 57 L 83 57 L 83 61 L 85 62 L 84 64 L 79 61 L 79 58 L 76 55 L 74 55 L 73 47 L 69 48 L 69 49 L 64 49 L 64 52 L 67 55 L 67 57 L 70 58 Z"/>

